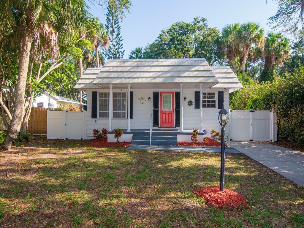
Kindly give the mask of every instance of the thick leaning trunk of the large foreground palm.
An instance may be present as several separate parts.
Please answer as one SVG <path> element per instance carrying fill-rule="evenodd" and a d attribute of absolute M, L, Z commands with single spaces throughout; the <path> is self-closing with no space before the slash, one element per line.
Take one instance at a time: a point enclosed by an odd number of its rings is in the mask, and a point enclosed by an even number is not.
<path fill-rule="evenodd" d="M 33 38 L 31 34 L 27 34 L 24 38 L 20 54 L 19 74 L 15 90 L 15 101 L 14 111 L 12 113 L 12 121 L 9 125 L 9 130 L 5 136 L 5 140 L 1 145 L 1 147 L 5 150 L 8 150 L 12 147 L 12 141 L 17 138 L 22 124 L 26 76 L 29 69 L 29 54 L 32 42 Z"/>

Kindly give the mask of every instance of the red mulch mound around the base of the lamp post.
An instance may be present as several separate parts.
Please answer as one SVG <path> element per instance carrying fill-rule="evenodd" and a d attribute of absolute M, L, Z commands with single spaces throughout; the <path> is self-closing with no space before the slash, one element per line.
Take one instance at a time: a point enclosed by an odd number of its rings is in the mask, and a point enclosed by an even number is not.
<path fill-rule="evenodd" d="M 247 206 L 244 196 L 227 188 L 224 188 L 224 190 L 222 192 L 219 186 L 208 186 L 192 192 L 206 199 L 208 205 L 212 204 L 215 207 Z"/>

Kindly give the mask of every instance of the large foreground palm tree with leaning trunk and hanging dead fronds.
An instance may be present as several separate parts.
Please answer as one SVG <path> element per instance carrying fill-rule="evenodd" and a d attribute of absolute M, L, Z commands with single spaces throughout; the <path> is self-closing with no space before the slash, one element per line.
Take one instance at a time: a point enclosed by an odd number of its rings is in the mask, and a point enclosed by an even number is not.
<path fill-rule="evenodd" d="M 5 39 L 1 37 L 0 40 L 1 50 L 17 47 L 17 55 L 9 52 L 6 54 L 9 58 L 18 56 L 19 61 L 14 110 L 9 130 L 1 145 L 3 149 L 9 149 L 20 132 L 31 53 L 34 54 L 40 48 L 43 50 L 42 56 L 50 55 L 50 59 L 54 60 L 59 54 L 58 33 L 63 37 L 60 42 L 73 38 L 78 26 L 85 20 L 83 12 L 86 7 L 84 0 L 0 0 L 0 28 L 7 28 L 7 33 L 2 34 Z M 39 47 L 40 44 L 43 46 Z"/>

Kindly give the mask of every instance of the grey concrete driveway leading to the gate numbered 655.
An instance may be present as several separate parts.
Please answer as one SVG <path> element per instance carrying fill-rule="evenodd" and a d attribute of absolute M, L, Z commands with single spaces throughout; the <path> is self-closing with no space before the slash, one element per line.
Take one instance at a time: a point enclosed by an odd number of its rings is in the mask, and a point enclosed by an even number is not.
<path fill-rule="evenodd" d="M 304 153 L 270 143 L 230 141 L 229 145 L 296 184 L 304 186 Z"/>

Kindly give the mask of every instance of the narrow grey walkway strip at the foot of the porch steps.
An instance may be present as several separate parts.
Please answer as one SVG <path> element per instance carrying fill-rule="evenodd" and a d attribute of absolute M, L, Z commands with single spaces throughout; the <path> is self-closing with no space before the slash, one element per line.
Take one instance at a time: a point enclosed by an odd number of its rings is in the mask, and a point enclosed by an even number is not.
<path fill-rule="evenodd" d="M 158 147 L 158 146 L 137 146 L 131 145 L 126 150 L 168 150 L 168 151 L 203 151 L 203 152 L 216 152 L 220 153 L 220 148 L 201 148 L 201 147 L 179 147 L 171 146 L 171 147 Z M 239 154 L 240 152 L 231 148 L 226 148 L 225 153 L 235 153 Z"/>

